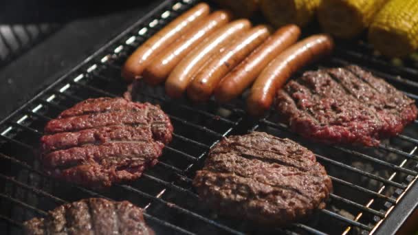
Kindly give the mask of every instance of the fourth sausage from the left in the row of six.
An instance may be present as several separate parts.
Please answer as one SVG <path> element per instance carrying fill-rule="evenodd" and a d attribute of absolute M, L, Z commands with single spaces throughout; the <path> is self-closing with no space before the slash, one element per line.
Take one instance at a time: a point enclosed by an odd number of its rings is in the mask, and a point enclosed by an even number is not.
<path fill-rule="evenodd" d="M 210 98 L 219 80 L 240 63 L 245 56 L 270 36 L 265 25 L 253 27 L 243 36 L 232 42 L 225 51 L 205 65 L 187 88 L 188 97 L 194 101 L 205 101 Z"/>

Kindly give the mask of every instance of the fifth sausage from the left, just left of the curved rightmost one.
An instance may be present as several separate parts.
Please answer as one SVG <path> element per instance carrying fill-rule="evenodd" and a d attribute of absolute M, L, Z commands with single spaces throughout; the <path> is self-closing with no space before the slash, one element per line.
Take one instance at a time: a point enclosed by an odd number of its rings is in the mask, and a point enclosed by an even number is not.
<path fill-rule="evenodd" d="M 286 25 L 278 29 L 222 78 L 214 91 L 214 97 L 220 102 L 227 102 L 239 96 L 274 57 L 296 43 L 299 35 L 300 28 L 296 25 Z"/>

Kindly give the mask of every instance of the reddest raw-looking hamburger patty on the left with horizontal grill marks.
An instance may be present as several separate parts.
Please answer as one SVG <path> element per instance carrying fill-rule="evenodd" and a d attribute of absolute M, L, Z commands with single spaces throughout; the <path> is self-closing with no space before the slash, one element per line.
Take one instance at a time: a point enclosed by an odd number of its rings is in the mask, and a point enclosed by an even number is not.
<path fill-rule="evenodd" d="M 50 175 L 102 188 L 137 179 L 157 164 L 173 126 L 152 104 L 96 98 L 63 111 L 45 133 L 41 161 Z"/>

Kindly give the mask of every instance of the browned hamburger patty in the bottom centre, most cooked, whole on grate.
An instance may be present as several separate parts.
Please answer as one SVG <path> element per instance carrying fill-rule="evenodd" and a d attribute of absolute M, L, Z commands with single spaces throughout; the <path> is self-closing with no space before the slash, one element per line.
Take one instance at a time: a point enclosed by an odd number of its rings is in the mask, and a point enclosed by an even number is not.
<path fill-rule="evenodd" d="M 314 153 L 290 139 L 261 132 L 219 142 L 193 185 L 220 214 L 272 226 L 325 208 L 332 190 Z"/>

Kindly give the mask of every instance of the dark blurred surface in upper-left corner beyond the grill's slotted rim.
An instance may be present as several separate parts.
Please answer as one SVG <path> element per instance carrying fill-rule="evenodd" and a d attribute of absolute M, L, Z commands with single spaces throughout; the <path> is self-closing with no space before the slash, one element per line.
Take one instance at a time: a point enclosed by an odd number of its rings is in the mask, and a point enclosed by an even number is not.
<path fill-rule="evenodd" d="M 3 1 L 0 118 L 162 1 Z"/>

